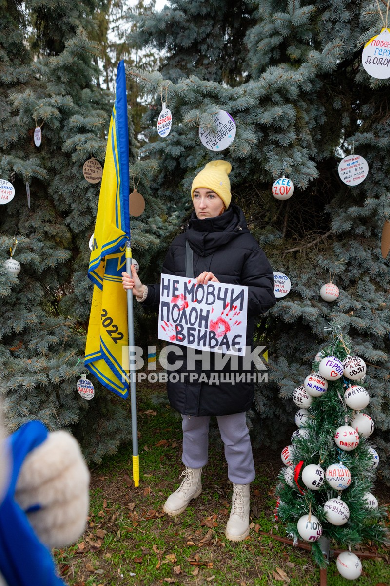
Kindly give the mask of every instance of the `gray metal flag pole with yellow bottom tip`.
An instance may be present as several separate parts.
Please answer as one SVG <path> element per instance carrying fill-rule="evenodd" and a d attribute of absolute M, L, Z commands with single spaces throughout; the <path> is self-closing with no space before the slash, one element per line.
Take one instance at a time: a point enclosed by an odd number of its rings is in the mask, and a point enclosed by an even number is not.
<path fill-rule="evenodd" d="M 126 272 L 132 276 L 132 247 L 130 240 L 126 241 Z M 132 440 L 133 440 L 133 480 L 134 486 L 140 482 L 140 461 L 138 454 L 138 426 L 137 426 L 137 396 L 136 372 L 134 369 L 134 317 L 133 317 L 133 289 L 127 289 L 127 331 L 129 333 L 129 370 L 130 370 L 130 401 L 132 407 Z"/>

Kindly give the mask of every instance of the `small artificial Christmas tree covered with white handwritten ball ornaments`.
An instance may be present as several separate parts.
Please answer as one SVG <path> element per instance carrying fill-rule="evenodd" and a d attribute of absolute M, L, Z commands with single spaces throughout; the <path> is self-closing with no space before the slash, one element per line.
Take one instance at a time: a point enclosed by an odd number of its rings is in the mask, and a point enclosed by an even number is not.
<path fill-rule="evenodd" d="M 301 407 L 295 416 L 298 430 L 282 451 L 286 466 L 277 486 L 277 518 L 295 544 L 299 537 L 313 544 L 320 568 L 327 563 L 320 538 L 348 549 L 386 536 L 380 523 L 385 507 L 378 507 L 371 493 L 379 458 L 367 440 L 374 423 L 367 414 L 366 367 L 351 356 L 351 340 L 337 322 L 332 338 L 317 353 L 313 372 L 294 390 L 294 403 Z M 356 578 L 361 564 L 351 556 L 347 563 L 341 557 L 337 568 L 348 577 L 344 566 L 351 562 Z"/>

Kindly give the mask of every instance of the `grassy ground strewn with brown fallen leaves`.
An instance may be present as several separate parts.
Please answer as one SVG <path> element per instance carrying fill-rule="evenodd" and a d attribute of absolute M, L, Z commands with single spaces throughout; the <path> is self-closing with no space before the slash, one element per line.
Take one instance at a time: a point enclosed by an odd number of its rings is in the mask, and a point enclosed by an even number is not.
<path fill-rule="evenodd" d="M 149 398 L 139 404 L 140 485 L 132 482 L 131 447 L 92 471 L 87 530 L 74 546 L 56 551 L 60 573 L 70 586 L 316 586 L 319 570 L 310 553 L 272 538 L 285 536 L 274 519 L 278 454 L 254 454 L 257 477 L 251 485 L 251 531 L 240 543 L 225 537 L 232 485 L 223 451 L 210 445 L 203 492 L 182 515 L 163 513 L 167 496 L 180 483 L 181 424 L 170 407 Z M 389 503 L 383 486 L 381 503 Z M 377 492 L 378 494 L 378 492 Z M 389 586 L 390 549 L 363 561 L 356 582 L 344 580 L 331 561 L 328 586 Z"/>

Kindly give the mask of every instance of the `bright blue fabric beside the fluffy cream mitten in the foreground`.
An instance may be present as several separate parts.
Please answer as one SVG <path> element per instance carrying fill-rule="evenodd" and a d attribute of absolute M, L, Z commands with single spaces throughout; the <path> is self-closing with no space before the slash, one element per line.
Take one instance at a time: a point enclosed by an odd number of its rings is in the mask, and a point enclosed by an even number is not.
<path fill-rule="evenodd" d="M 26 456 L 46 438 L 46 427 L 39 421 L 31 421 L 7 439 L 12 471 L 0 505 L 0 572 L 9 586 L 64 586 L 56 575 L 50 551 L 37 539 L 25 511 L 14 499 Z"/>

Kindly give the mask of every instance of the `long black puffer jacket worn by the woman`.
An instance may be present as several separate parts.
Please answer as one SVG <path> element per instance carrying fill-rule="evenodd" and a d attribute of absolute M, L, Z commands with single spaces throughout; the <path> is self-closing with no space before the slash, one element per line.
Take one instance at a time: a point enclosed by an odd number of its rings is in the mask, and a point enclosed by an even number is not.
<path fill-rule="evenodd" d="M 165 257 L 162 272 L 178 277 L 185 277 L 185 247 L 187 240 L 194 251 L 194 275 L 198 277 L 203 271 L 211 271 L 220 282 L 234 285 L 247 285 L 247 346 L 253 346 L 254 318 L 263 314 L 275 304 L 274 275 L 263 250 L 251 236 L 242 210 L 231 205 L 222 216 L 199 220 L 192 214 L 185 233 L 172 242 Z M 148 285 L 145 305 L 158 305 L 160 302 L 160 285 Z M 180 369 L 187 373 L 187 347 L 180 346 L 184 360 Z M 170 357 L 172 359 L 170 360 Z M 168 360 L 174 363 L 173 353 Z M 200 376 L 205 373 L 208 381 L 214 372 L 215 353 L 210 352 L 210 371 L 202 370 L 202 363 L 195 361 L 195 372 Z M 243 365 L 239 357 L 239 372 Z M 224 375 L 232 372 L 229 364 L 222 371 Z M 220 379 L 220 372 L 217 373 Z M 202 377 L 203 379 L 205 377 Z M 224 376 L 225 379 L 225 376 Z M 198 380 L 168 381 L 168 398 L 172 407 L 185 415 L 228 415 L 247 411 L 253 401 L 254 383 L 240 381 L 232 384 L 220 382 L 219 386 Z"/>

